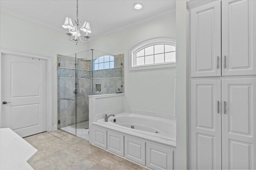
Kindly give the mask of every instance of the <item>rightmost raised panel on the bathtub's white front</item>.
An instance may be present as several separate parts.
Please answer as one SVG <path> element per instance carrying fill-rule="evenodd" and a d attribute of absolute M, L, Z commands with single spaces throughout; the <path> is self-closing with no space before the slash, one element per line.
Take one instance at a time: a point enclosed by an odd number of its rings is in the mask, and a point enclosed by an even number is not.
<path fill-rule="evenodd" d="M 152 169 L 173 169 L 173 150 L 148 144 L 146 146 L 146 166 Z"/>

